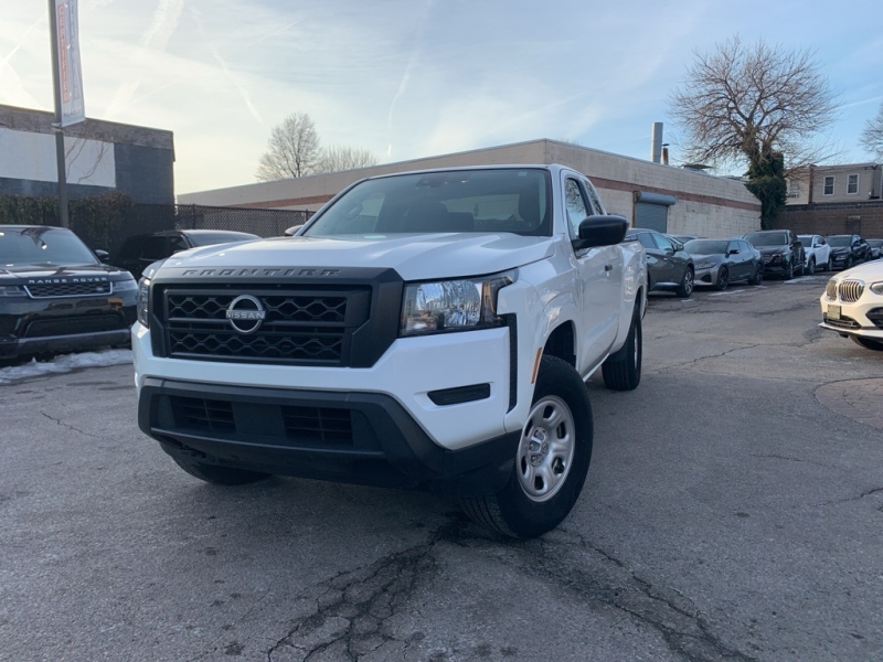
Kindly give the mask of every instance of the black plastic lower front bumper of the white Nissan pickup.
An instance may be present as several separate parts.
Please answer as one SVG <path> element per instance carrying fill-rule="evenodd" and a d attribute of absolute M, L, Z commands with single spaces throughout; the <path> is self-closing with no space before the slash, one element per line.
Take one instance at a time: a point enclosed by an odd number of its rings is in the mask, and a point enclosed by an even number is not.
<path fill-rule="evenodd" d="M 141 383 L 138 425 L 172 457 L 459 496 L 502 489 L 520 439 L 510 433 L 449 450 L 390 395 L 153 377 Z"/>

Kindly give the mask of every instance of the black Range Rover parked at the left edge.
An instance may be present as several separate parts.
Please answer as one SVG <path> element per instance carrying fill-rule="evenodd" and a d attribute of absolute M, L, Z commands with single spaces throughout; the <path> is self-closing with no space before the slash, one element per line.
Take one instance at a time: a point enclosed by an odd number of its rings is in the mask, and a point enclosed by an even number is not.
<path fill-rule="evenodd" d="M 129 342 L 137 285 L 70 229 L 0 225 L 0 357 Z"/>

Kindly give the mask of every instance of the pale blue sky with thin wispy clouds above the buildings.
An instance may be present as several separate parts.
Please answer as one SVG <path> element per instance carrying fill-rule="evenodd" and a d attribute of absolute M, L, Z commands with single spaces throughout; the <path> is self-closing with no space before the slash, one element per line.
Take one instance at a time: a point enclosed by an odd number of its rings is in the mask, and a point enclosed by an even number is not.
<path fill-rule="evenodd" d="M 174 132 L 175 192 L 247 184 L 272 128 L 381 163 L 551 138 L 648 159 L 694 52 L 809 49 L 839 162 L 883 103 L 880 0 L 79 0 L 86 114 Z M 52 110 L 46 0 L 0 0 L 0 104 Z"/>

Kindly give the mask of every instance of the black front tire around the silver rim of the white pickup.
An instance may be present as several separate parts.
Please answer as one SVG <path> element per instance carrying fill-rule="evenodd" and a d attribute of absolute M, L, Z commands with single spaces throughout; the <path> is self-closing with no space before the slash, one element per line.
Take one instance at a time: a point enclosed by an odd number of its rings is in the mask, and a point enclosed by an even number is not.
<path fill-rule="evenodd" d="M 464 511 L 476 523 L 517 538 L 535 537 L 561 524 L 583 490 L 592 460 L 592 405 L 588 401 L 588 391 L 568 363 L 555 356 L 542 357 L 532 402 L 531 416 L 524 424 L 512 473 L 506 487 L 494 494 L 470 496 L 461 501 Z M 557 415 L 564 414 L 565 410 L 570 419 L 565 416 L 563 423 L 552 429 L 552 434 L 558 435 L 558 439 L 562 439 L 560 436 L 562 434 L 572 437 L 573 452 L 566 466 L 557 455 L 550 461 L 552 472 L 554 473 L 556 467 L 560 467 L 564 477 L 553 490 L 550 490 L 547 496 L 529 495 L 525 491 L 528 488 L 523 487 L 522 482 L 535 488 L 538 479 L 533 478 L 534 482 L 531 483 L 531 479 L 524 474 L 542 473 L 533 471 L 532 468 L 536 467 L 534 458 L 542 456 L 542 461 L 545 463 L 550 455 L 547 451 L 552 449 L 551 445 L 544 441 L 543 446 L 547 450 L 531 455 L 534 451 L 530 449 L 530 440 L 535 438 L 538 431 L 549 433 L 542 424 L 536 425 L 536 423 L 557 420 Z M 562 428 L 568 421 L 570 429 Z M 556 461 L 560 461 L 557 466 Z"/>

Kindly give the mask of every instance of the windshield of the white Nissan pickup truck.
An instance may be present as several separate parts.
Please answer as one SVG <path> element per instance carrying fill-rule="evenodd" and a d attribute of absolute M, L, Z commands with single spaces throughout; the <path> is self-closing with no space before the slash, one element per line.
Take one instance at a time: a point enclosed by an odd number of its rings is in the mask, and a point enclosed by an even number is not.
<path fill-rule="evenodd" d="M 550 236 L 545 170 L 456 170 L 368 180 L 316 217 L 312 237 L 511 232 Z"/>

